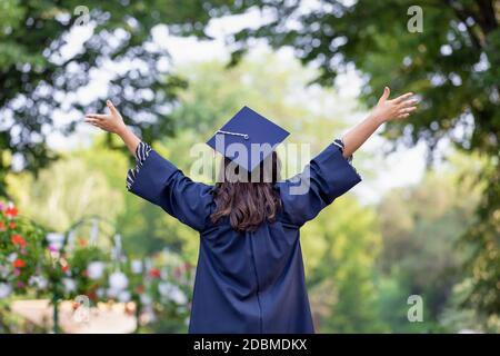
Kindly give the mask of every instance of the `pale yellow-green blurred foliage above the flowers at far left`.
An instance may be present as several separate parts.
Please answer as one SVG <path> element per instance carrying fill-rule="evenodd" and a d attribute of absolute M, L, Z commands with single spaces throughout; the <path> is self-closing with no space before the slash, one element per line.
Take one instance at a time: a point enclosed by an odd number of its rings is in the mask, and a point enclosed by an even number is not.
<path fill-rule="evenodd" d="M 101 156 L 101 166 L 97 156 Z M 117 170 L 104 169 L 110 161 Z M 67 230 L 74 221 L 92 215 L 113 221 L 123 209 L 126 167 L 127 160 L 120 154 L 93 150 L 93 157 L 88 152 L 81 160 L 59 160 L 38 178 L 29 174 L 11 175 L 9 191 L 27 216 L 53 230 Z M 114 179 L 120 170 L 121 179 Z M 120 184 L 113 187 L 114 182 Z"/>

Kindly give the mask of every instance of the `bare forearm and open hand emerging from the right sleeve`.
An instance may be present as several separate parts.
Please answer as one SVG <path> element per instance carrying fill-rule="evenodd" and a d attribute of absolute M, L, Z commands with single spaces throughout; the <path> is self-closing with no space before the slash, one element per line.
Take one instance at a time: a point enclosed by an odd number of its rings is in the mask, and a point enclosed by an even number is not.
<path fill-rule="evenodd" d="M 343 157 L 350 157 L 383 122 L 408 118 L 417 109 L 417 100 L 411 99 L 412 92 L 389 100 L 390 92 L 386 87 L 372 112 L 343 136 Z"/>

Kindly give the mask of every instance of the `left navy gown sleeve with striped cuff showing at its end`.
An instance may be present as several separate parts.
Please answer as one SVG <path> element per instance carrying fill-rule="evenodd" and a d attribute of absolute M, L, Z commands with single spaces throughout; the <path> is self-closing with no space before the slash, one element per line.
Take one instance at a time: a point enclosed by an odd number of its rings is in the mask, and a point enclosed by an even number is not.
<path fill-rule="evenodd" d="M 138 146 L 136 158 L 127 176 L 129 191 L 201 231 L 210 216 L 211 186 L 192 181 L 147 144 Z"/>

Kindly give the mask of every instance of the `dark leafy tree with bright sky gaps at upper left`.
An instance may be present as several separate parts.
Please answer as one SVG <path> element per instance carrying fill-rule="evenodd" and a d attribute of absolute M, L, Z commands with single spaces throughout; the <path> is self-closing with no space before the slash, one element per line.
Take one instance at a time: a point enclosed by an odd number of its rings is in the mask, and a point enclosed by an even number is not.
<path fill-rule="evenodd" d="M 171 134 L 169 108 L 183 81 L 159 67 L 168 53 L 151 44 L 151 29 L 167 23 L 170 33 L 203 37 L 210 16 L 219 13 L 213 7 L 229 2 L 1 1 L 0 194 L 13 161 L 21 162 L 17 171 L 38 171 L 57 158 L 46 144 L 49 134 L 70 134 L 84 111 L 104 108 L 104 98 L 78 98 L 99 69 L 111 75 L 106 97 L 120 105 L 127 123 L 149 141 Z"/>

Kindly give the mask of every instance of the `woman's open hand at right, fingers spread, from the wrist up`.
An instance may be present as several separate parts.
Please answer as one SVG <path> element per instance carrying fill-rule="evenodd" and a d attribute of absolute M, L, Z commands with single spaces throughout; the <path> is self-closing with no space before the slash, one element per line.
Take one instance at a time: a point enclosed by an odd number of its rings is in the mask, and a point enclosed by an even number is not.
<path fill-rule="evenodd" d="M 418 100 L 411 99 L 412 92 L 403 93 L 402 96 L 389 100 L 390 89 L 386 87 L 383 95 L 374 107 L 371 116 L 379 122 L 386 122 L 393 119 L 406 119 L 413 112 Z"/>

